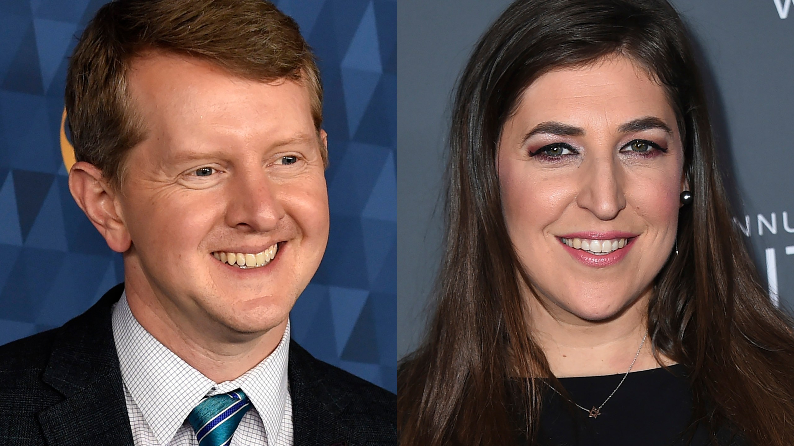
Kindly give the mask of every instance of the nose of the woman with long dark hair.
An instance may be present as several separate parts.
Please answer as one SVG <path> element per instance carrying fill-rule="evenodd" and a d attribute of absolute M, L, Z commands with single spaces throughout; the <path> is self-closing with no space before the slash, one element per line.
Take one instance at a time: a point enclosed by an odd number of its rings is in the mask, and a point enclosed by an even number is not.
<path fill-rule="evenodd" d="M 599 157 L 580 166 L 580 191 L 576 204 L 600 220 L 611 220 L 626 207 L 624 175 L 614 157 Z"/>

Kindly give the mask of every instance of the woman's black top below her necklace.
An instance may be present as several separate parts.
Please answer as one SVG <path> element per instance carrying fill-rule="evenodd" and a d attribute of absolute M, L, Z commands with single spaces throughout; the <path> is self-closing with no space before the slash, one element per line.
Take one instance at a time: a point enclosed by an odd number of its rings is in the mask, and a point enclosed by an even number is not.
<path fill-rule="evenodd" d="M 705 429 L 688 429 L 692 395 L 680 365 L 635 371 L 626 377 L 597 417 L 547 389 L 538 431 L 542 446 L 704 446 Z M 571 400 L 588 409 L 599 407 L 623 375 L 562 378 Z M 565 391 L 562 391 L 565 394 Z M 690 437 L 692 442 L 689 443 Z M 720 441 L 720 444 L 740 444 Z"/>

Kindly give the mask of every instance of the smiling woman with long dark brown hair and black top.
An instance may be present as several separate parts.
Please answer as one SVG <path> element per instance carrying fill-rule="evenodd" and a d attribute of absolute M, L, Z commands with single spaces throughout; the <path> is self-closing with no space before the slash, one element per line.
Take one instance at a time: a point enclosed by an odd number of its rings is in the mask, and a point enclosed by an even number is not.
<path fill-rule="evenodd" d="M 519 0 L 453 106 L 403 444 L 794 444 L 794 333 L 731 220 L 665 0 Z"/>

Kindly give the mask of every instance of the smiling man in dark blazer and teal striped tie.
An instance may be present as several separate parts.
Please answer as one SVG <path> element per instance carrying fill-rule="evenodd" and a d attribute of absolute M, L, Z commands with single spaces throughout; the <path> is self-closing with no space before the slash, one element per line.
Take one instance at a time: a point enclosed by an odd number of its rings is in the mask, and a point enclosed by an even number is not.
<path fill-rule="evenodd" d="M 396 444 L 290 340 L 328 238 L 322 87 L 261 0 L 119 0 L 75 48 L 69 186 L 125 283 L 0 348 L 0 444 Z"/>

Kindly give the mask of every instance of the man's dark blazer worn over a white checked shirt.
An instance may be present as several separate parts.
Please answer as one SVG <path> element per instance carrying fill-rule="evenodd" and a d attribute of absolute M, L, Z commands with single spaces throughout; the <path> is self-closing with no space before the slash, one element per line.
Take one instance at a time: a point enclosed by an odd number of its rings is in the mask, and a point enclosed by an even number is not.
<path fill-rule="evenodd" d="M 123 284 L 58 329 L 0 347 L 0 445 L 133 446 L 110 314 Z M 290 344 L 295 446 L 397 444 L 395 395 Z"/>

